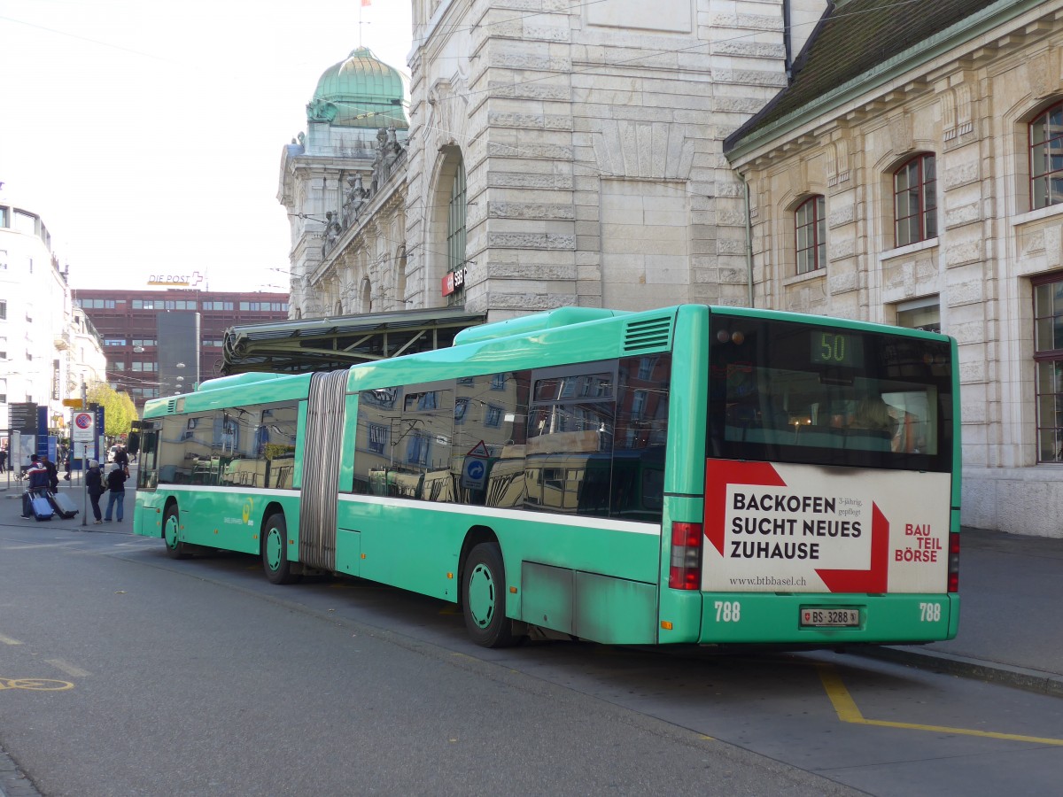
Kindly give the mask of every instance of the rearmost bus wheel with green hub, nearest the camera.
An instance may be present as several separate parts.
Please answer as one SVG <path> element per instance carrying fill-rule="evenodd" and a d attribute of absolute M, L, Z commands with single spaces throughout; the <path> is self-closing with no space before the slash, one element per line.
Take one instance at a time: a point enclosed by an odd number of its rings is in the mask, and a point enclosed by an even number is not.
<path fill-rule="evenodd" d="M 497 543 L 482 542 L 466 558 L 461 583 L 466 628 L 484 647 L 509 647 L 519 641 L 506 616 L 506 567 Z"/>

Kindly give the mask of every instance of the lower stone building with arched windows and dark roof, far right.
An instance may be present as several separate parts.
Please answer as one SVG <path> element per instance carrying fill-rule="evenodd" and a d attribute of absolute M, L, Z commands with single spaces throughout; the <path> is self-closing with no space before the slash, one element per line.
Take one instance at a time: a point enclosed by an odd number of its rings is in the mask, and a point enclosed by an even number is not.
<path fill-rule="evenodd" d="M 754 301 L 956 337 L 963 523 L 1063 536 L 1063 2 L 889 5 L 839 2 L 728 139 Z"/>

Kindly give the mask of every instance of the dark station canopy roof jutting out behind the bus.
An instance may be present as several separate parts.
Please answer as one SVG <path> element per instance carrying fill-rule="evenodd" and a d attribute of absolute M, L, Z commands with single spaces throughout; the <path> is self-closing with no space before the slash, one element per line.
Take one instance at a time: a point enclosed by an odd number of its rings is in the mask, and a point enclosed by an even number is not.
<path fill-rule="evenodd" d="M 485 321 L 486 313 L 436 307 L 231 326 L 225 330 L 221 373 L 337 371 L 445 349 L 459 332 Z"/>

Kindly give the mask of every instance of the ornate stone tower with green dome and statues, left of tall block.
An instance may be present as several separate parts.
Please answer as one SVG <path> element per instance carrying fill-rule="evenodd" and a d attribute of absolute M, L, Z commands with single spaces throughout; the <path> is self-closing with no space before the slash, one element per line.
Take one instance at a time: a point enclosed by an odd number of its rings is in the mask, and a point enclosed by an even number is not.
<path fill-rule="evenodd" d="M 389 180 L 402 176 L 403 102 L 402 75 L 364 47 L 318 81 L 307 132 L 285 148 L 281 163 L 291 318 L 403 306 L 405 202 L 394 191 L 402 181 Z"/>

